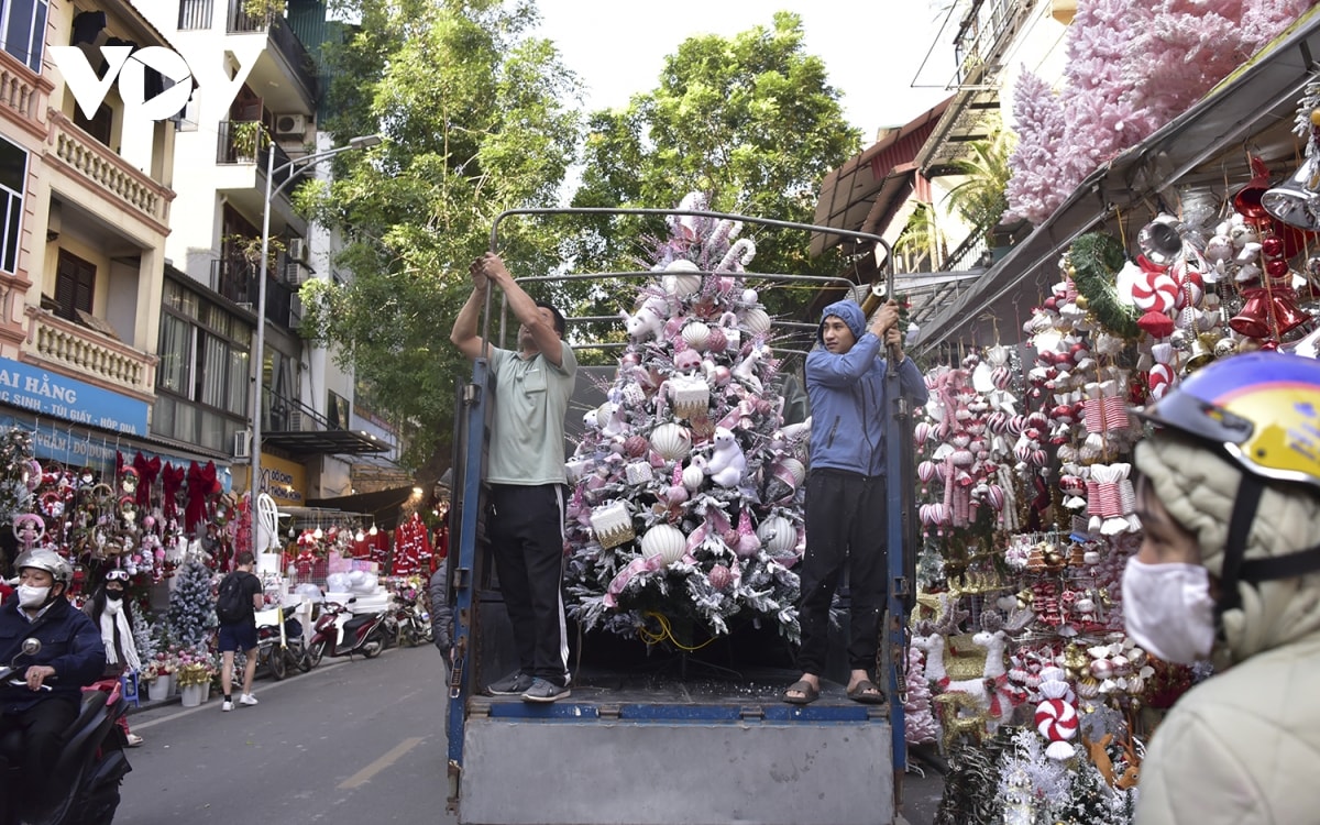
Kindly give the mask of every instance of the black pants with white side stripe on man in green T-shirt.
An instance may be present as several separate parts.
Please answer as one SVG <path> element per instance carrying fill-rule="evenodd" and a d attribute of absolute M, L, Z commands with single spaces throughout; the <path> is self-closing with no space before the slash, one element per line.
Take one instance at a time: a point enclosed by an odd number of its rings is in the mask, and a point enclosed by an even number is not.
<path fill-rule="evenodd" d="M 569 678 L 564 619 L 564 487 L 491 484 L 487 536 L 519 669 L 556 685 Z"/>

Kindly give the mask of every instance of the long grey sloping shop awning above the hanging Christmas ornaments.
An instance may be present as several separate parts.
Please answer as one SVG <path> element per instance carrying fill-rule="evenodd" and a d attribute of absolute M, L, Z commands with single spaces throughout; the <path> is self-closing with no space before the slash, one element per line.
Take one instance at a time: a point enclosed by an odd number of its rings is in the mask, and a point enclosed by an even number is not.
<path fill-rule="evenodd" d="M 1093 172 L 1049 219 L 927 322 L 913 351 L 999 343 L 993 322 L 1030 317 L 1059 280 L 1059 255 L 1078 235 L 1119 234 L 1121 227 L 1133 238 L 1158 211 L 1176 209 L 1179 191 L 1189 187 L 1226 195 L 1250 180 L 1251 154 L 1276 177 L 1290 174 L 1299 152 L 1292 121 L 1304 87 L 1315 81 L 1316 54 L 1320 7 L 1200 103 Z"/>

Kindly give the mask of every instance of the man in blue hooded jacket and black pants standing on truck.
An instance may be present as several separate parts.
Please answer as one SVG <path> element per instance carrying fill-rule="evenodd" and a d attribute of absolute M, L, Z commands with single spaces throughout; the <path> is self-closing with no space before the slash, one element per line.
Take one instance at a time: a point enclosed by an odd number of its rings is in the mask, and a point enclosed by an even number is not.
<path fill-rule="evenodd" d="M 925 404 L 921 371 L 903 355 L 899 308 L 890 301 L 870 325 L 853 301 L 830 304 L 807 356 L 812 403 L 810 473 L 807 477 L 807 554 L 800 570 L 797 664 L 803 677 L 784 701 L 807 705 L 820 696 L 829 645 L 829 609 L 847 564 L 851 619 L 847 639 L 849 698 L 880 704 L 871 678 L 884 610 L 884 347 L 899 358 L 899 381 L 913 404 Z M 879 678 L 876 676 L 876 678 Z"/>

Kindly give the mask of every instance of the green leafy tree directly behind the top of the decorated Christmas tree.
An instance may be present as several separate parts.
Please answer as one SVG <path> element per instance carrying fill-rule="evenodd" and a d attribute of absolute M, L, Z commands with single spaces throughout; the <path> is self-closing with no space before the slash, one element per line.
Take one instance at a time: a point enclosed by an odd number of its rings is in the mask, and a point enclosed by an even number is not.
<path fill-rule="evenodd" d="M 623 110 L 590 116 L 586 164 L 574 206 L 659 207 L 704 191 L 713 211 L 810 223 L 820 182 L 859 149 L 840 92 L 821 58 L 805 53 L 797 15 L 779 12 L 770 28 L 733 38 L 692 37 L 665 59 L 660 84 Z M 578 268 L 628 271 L 663 238 L 659 220 L 589 222 L 572 244 Z M 834 275 L 832 253 L 810 260 L 805 232 L 747 227 L 756 240 L 751 269 Z M 795 301 L 766 296 L 779 312 Z"/>

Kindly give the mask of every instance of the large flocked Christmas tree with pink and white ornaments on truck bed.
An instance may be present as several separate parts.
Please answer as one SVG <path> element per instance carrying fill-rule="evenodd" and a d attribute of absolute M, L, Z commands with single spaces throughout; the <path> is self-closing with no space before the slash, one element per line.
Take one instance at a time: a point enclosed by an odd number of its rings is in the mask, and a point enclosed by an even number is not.
<path fill-rule="evenodd" d="M 684 210 L 704 210 L 688 195 Z M 775 389 L 742 224 L 669 219 L 609 400 L 569 461 L 569 612 L 678 647 L 734 619 L 799 635 L 803 444 Z"/>

